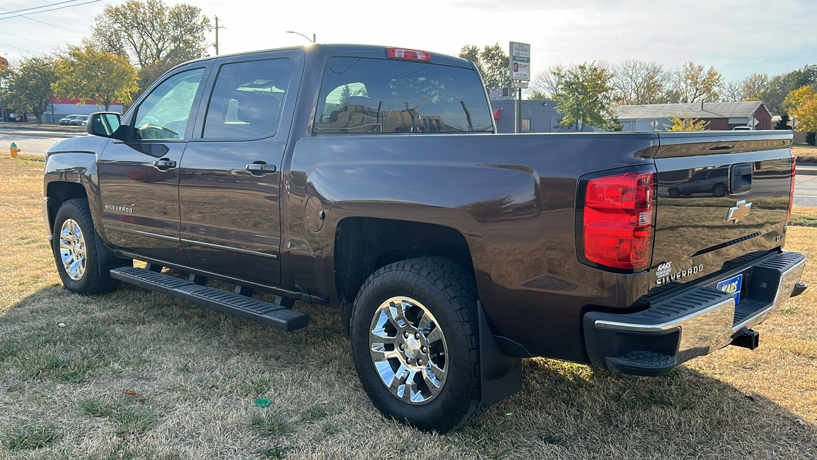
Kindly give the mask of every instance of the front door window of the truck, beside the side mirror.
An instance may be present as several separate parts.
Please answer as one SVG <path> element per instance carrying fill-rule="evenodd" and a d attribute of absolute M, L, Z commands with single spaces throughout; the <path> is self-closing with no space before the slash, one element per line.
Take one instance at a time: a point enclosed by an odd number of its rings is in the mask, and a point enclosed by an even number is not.
<path fill-rule="evenodd" d="M 203 74 L 203 69 L 175 74 L 150 92 L 136 111 L 132 139 L 184 138 Z"/>

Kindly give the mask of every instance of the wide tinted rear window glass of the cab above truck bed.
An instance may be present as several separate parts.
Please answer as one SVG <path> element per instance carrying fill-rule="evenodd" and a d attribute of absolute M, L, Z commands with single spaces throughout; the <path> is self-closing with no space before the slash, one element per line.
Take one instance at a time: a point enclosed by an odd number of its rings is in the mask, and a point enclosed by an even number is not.
<path fill-rule="evenodd" d="M 332 57 L 315 133 L 493 132 L 474 70 L 424 62 Z"/>

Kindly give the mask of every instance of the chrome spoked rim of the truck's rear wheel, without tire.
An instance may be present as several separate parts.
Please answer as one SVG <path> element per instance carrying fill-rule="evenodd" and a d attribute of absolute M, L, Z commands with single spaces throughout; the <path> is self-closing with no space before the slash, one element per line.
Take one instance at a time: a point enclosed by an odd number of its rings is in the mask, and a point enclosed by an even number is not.
<path fill-rule="evenodd" d="M 368 335 L 372 363 L 383 384 L 408 404 L 440 394 L 448 374 L 448 346 L 434 315 L 417 300 L 392 297 L 375 310 Z"/>

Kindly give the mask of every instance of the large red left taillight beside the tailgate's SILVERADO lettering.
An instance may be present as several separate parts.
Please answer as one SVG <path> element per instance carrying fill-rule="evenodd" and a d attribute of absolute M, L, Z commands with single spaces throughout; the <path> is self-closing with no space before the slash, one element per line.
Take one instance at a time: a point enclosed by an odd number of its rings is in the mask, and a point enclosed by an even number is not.
<path fill-rule="evenodd" d="M 650 265 L 654 172 L 636 171 L 587 180 L 584 257 L 611 268 Z"/>

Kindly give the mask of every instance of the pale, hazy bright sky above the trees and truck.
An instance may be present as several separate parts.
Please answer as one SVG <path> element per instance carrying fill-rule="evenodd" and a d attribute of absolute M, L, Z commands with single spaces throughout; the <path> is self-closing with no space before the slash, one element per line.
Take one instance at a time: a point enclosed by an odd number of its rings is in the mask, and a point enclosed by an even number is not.
<path fill-rule="evenodd" d="M 106 4 L 122 2 L 0 0 L 0 56 L 13 62 L 78 44 Z M 295 30 L 316 34 L 319 43 L 368 43 L 453 55 L 465 44 L 499 43 L 507 49 L 511 41 L 529 43 L 534 75 L 556 64 L 637 59 L 667 69 L 687 61 L 712 65 L 731 81 L 817 64 L 814 0 L 187 2 L 211 18 L 218 16 L 225 26 L 219 31 L 221 54 L 308 45 L 306 38 L 287 33 Z M 87 4 L 29 19 L 3 14 L 49 3 Z M 215 53 L 212 47 L 209 52 Z"/>

